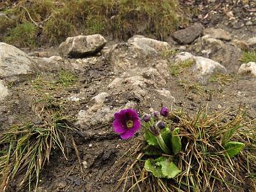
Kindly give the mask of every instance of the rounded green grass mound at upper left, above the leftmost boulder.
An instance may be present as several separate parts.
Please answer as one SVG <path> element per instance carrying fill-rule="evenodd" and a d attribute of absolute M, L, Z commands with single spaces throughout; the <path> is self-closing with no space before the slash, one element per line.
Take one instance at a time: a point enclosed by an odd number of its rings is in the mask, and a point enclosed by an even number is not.
<path fill-rule="evenodd" d="M 38 27 L 32 23 L 21 23 L 8 31 L 4 41 L 18 47 L 34 47 L 36 46 L 37 33 Z"/>

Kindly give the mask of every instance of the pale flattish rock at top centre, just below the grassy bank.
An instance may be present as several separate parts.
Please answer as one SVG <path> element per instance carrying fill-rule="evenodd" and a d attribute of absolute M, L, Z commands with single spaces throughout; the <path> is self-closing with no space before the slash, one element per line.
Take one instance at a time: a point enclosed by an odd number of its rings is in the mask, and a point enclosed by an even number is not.
<path fill-rule="evenodd" d="M 145 55 L 157 54 L 171 48 L 169 43 L 157 41 L 152 38 L 145 38 L 144 36 L 133 36 L 129 38 L 127 42 L 135 48 L 142 50 Z"/>

